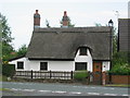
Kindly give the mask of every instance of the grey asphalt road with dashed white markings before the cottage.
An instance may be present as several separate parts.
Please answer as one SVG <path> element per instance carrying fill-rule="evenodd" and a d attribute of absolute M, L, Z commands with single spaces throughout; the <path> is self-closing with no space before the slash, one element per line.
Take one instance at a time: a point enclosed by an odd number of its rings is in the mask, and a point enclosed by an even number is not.
<path fill-rule="evenodd" d="M 130 96 L 128 88 L 60 83 L 3 82 L 2 96 Z"/>

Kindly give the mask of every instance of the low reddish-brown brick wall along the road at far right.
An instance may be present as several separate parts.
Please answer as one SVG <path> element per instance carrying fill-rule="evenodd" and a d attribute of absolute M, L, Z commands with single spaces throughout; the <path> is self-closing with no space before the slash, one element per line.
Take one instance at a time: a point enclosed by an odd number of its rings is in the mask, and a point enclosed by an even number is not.
<path fill-rule="evenodd" d="M 130 84 L 130 75 L 112 75 L 113 84 Z"/>

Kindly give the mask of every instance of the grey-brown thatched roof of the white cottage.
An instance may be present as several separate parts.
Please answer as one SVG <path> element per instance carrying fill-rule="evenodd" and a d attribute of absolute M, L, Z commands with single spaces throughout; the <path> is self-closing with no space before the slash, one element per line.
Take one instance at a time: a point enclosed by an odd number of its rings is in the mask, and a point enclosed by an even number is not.
<path fill-rule="evenodd" d="M 110 27 L 37 28 L 28 47 L 29 59 L 74 60 L 81 46 L 91 49 L 93 60 L 109 60 Z"/>

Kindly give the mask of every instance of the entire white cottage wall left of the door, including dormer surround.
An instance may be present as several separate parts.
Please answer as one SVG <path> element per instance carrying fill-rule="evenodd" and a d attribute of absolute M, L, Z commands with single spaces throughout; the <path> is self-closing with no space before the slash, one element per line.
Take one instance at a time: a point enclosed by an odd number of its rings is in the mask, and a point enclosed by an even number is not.
<path fill-rule="evenodd" d="M 17 60 L 14 60 L 12 62 L 9 62 L 11 64 L 15 64 L 16 71 L 23 71 L 17 69 L 17 61 L 24 62 L 24 71 L 40 71 L 40 62 L 48 62 L 48 71 L 75 71 L 75 62 L 87 62 L 88 63 L 88 71 L 92 72 L 92 57 L 90 54 L 90 51 L 88 51 L 88 56 L 79 56 L 79 50 L 76 54 L 75 61 L 34 61 L 28 60 L 27 58 L 21 58 Z"/>

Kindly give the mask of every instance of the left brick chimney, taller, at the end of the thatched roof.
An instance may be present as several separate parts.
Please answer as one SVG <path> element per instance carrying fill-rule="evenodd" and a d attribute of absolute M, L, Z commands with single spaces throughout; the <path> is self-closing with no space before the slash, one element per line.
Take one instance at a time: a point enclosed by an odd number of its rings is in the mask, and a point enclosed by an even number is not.
<path fill-rule="evenodd" d="M 40 14 L 38 13 L 38 10 L 36 10 L 36 13 L 34 14 L 34 29 L 40 27 Z"/>

